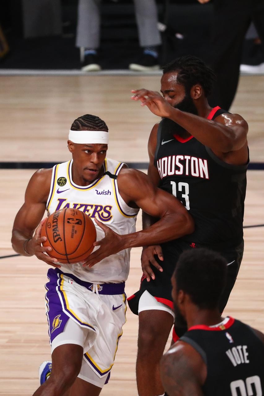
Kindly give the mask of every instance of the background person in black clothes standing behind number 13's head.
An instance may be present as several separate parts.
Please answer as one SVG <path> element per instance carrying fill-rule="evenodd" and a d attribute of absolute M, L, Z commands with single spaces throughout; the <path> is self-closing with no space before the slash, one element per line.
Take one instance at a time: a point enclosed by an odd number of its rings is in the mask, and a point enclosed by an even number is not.
<path fill-rule="evenodd" d="M 210 0 L 198 0 L 205 4 Z M 209 104 L 229 110 L 239 80 L 245 34 L 251 21 L 264 42 L 264 0 L 214 0 L 212 37 L 205 59 L 217 76 Z M 264 48 L 263 48 L 264 51 Z"/>

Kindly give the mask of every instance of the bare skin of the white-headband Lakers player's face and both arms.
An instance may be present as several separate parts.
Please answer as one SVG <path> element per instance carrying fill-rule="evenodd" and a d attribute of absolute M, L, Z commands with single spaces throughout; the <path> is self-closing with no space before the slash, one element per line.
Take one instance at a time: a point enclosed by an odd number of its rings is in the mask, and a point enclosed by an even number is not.
<path fill-rule="evenodd" d="M 81 145 L 71 141 L 68 141 L 68 145 L 73 154 L 73 181 L 77 185 L 87 186 L 103 174 L 107 145 Z M 59 267 L 57 260 L 46 254 L 51 248 L 41 246 L 46 237 L 40 237 L 40 221 L 46 210 L 51 178 L 52 169 L 40 169 L 31 177 L 25 193 L 25 202 L 15 217 L 12 245 L 19 254 L 34 254 L 45 263 Z M 144 173 L 123 168 L 117 177 L 117 183 L 122 198 L 129 206 L 142 208 L 160 220 L 149 230 L 128 235 L 119 235 L 96 220 L 104 230 L 105 238 L 95 242 L 94 245 L 100 245 L 100 248 L 88 257 L 85 266 L 92 267 L 103 258 L 128 247 L 166 242 L 193 232 L 193 220 L 181 202 L 153 186 Z M 151 276 L 147 271 L 145 275 L 148 278 Z"/>

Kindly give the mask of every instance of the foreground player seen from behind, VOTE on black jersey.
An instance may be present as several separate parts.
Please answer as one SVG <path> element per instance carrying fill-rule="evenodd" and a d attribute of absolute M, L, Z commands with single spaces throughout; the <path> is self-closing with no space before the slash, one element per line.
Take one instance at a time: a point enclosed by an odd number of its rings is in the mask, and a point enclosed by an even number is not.
<path fill-rule="evenodd" d="M 264 334 L 231 317 L 218 302 L 227 262 L 208 249 L 180 255 L 172 276 L 176 319 L 188 331 L 161 359 L 170 396 L 260 396 L 264 391 Z"/>

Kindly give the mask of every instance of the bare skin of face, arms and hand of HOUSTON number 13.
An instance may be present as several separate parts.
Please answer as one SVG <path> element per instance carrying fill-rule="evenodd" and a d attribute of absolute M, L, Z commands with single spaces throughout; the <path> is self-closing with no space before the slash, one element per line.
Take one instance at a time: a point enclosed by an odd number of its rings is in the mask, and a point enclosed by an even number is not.
<path fill-rule="evenodd" d="M 247 122 L 238 114 L 224 113 L 214 120 L 207 120 L 212 107 L 209 106 L 203 88 L 195 84 L 189 92 L 198 115 L 184 112 L 174 108 L 182 102 L 186 96 L 184 86 L 178 83 L 177 72 L 168 72 L 161 78 L 161 93 L 149 91 L 147 89 L 133 89 L 131 99 L 140 101 L 142 106 L 160 117 L 170 118 L 177 122 L 185 131 L 182 137 L 186 139 L 193 135 L 203 145 L 209 147 L 212 152 L 227 164 L 244 165 L 248 160 L 247 148 Z M 148 141 L 149 166 L 147 175 L 152 183 L 157 186 L 160 182 L 160 175 L 154 166 L 154 157 L 157 148 L 157 131 L 159 123 L 155 124 L 151 130 Z M 143 228 L 150 227 L 155 222 L 146 213 L 143 213 Z M 149 267 L 151 262 L 158 268 L 158 263 L 154 255 L 158 254 L 163 260 L 161 247 L 148 246 L 143 248 L 142 269 Z"/>

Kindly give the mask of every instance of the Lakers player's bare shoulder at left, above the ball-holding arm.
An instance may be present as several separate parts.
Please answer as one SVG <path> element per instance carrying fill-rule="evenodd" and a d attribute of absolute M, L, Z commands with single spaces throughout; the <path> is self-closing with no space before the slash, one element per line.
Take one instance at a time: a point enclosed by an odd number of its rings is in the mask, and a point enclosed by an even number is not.
<path fill-rule="evenodd" d="M 52 168 L 38 169 L 31 177 L 26 190 L 26 197 L 37 199 L 38 202 L 46 202 L 50 192 Z"/>

